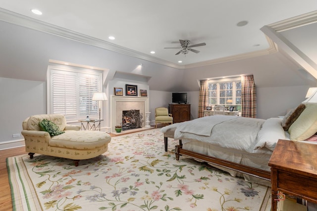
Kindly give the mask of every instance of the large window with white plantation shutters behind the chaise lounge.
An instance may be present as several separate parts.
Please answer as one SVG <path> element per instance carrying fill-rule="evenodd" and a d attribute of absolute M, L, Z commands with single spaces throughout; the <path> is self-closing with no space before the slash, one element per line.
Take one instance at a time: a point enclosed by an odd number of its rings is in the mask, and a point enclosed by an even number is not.
<path fill-rule="evenodd" d="M 94 92 L 102 88 L 102 73 L 87 69 L 49 66 L 48 111 L 63 114 L 67 120 L 99 115 L 99 103 Z"/>

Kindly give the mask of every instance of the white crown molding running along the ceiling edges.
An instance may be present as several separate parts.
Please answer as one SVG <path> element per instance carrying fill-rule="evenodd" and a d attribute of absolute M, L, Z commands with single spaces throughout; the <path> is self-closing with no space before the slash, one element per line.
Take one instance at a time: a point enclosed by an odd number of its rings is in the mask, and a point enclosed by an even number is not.
<path fill-rule="evenodd" d="M 7 23 L 14 24 L 14 25 L 48 33 L 51 35 L 59 36 L 62 38 L 73 40 L 73 41 L 82 42 L 85 44 L 93 45 L 96 47 L 104 48 L 110 51 L 122 53 L 122 54 L 129 55 L 135 58 L 147 60 L 150 62 L 158 63 L 161 65 L 165 65 L 165 66 L 177 68 L 177 69 L 187 69 L 187 68 L 207 66 L 207 65 L 216 64 L 216 63 L 234 61 L 239 59 L 247 59 L 247 58 L 252 58 L 256 56 L 267 55 L 267 54 L 278 51 L 276 44 L 266 37 L 269 47 L 264 50 L 237 54 L 237 55 L 212 59 L 208 61 L 188 64 L 188 65 L 179 65 L 179 64 L 174 64 L 172 62 L 169 62 L 163 59 L 159 59 L 157 57 L 154 57 L 142 52 L 138 52 L 129 48 L 125 48 L 125 47 L 113 44 L 111 42 L 106 42 L 97 38 L 93 38 L 81 33 L 77 33 L 77 32 L 62 28 L 62 27 L 57 27 L 52 24 L 45 23 L 43 21 L 39 21 L 39 20 L 21 15 L 18 13 L 11 12 L 9 10 L 2 9 L 2 8 L 0 8 L 0 20 Z M 296 16 L 294 18 L 290 18 L 284 21 L 276 22 L 269 26 L 272 27 L 275 31 L 284 31 L 284 30 L 295 28 L 295 27 L 300 27 L 303 25 L 315 23 L 315 22 L 317 22 L 317 11 Z"/>

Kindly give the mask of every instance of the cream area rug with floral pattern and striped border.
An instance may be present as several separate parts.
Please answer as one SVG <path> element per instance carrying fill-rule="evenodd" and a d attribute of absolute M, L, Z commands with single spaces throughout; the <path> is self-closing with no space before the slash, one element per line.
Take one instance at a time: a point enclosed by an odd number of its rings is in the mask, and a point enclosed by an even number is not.
<path fill-rule="evenodd" d="M 7 159 L 15 211 L 260 211 L 269 188 L 182 156 L 159 129 L 112 137 L 108 151 L 73 161 L 35 154 Z"/>

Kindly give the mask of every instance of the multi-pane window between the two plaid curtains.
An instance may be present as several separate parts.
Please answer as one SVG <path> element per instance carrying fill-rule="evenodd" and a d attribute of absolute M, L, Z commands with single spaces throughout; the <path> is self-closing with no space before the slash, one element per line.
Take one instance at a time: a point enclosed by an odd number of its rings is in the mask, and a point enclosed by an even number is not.
<path fill-rule="evenodd" d="M 208 92 L 209 105 L 236 106 L 241 111 L 241 78 L 210 80 Z"/>

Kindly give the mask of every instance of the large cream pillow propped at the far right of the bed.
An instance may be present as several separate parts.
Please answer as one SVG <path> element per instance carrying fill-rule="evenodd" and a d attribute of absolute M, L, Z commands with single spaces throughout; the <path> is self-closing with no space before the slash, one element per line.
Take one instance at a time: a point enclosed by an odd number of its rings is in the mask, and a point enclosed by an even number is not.
<path fill-rule="evenodd" d="M 314 135 L 317 132 L 317 104 L 307 104 L 288 132 L 294 141 L 303 141 Z"/>

